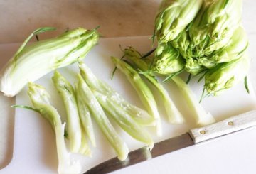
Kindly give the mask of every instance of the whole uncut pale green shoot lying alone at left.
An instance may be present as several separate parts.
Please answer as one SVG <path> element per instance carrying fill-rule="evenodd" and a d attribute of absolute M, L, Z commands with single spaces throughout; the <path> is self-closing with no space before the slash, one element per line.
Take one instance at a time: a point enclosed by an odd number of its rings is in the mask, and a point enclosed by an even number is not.
<path fill-rule="evenodd" d="M 96 45 L 99 35 L 96 30 L 75 28 L 56 38 L 26 45 L 30 38 L 26 39 L 1 71 L 0 90 L 8 97 L 18 94 L 28 81 L 38 80 L 48 72 L 85 58 Z"/>

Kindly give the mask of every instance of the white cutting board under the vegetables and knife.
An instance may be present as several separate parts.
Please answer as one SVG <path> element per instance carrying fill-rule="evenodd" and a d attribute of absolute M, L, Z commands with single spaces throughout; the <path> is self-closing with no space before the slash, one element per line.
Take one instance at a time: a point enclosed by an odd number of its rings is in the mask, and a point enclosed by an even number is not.
<path fill-rule="evenodd" d="M 149 36 L 103 38 L 100 40 L 100 44 L 93 48 L 86 56 L 85 62 L 97 77 L 105 80 L 105 82 L 122 94 L 129 102 L 143 108 L 137 94 L 122 73 L 117 71 L 114 75 L 114 79 L 110 80 L 113 70 L 110 55 L 117 56 L 118 58 L 122 56 L 119 45 L 122 45 L 122 48 L 132 45 L 142 53 L 151 50 L 151 40 L 149 40 Z M 9 53 L 15 53 L 18 44 L 1 45 L 0 48 L 1 51 L 6 50 Z M 70 82 L 75 82 L 75 73 L 78 72 L 78 67 L 77 65 L 72 65 L 60 69 L 60 72 L 67 77 Z M 65 116 L 63 103 L 51 81 L 52 75 L 53 73 L 50 73 L 36 81 L 36 83 L 46 87 L 51 95 L 52 104 L 58 109 L 62 116 Z M 195 80 L 192 80 L 191 88 L 199 99 L 202 84 L 197 84 L 193 81 Z M 169 124 L 166 121 L 164 109 L 160 107 L 164 135 L 161 138 L 154 136 L 155 142 L 177 136 L 196 126 L 193 120 L 189 118 L 189 109 L 186 107 L 185 101 L 183 101 L 176 86 L 172 82 L 166 83 L 165 86 L 166 89 L 169 89 L 169 93 L 174 99 L 174 102 L 176 102 L 178 109 L 186 116 L 188 123 L 183 125 Z M 202 104 L 208 112 L 213 114 L 217 121 L 220 121 L 233 114 L 240 114 L 256 108 L 256 97 L 251 85 L 250 90 L 250 94 L 247 94 L 241 82 L 232 89 L 226 90 L 225 93 L 219 97 L 204 99 Z M 159 105 L 162 104 L 161 101 L 158 101 L 158 103 Z M 26 94 L 26 89 L 23 89 L 21 93 L 17 95 L 16 104 L 31 106 L 28 95 Z M 97 163 L 106 161 L 115 156 L 114 151 L 102 136 L 99 129 L 97 129 L 96 124 L 95 131 L 97 136 L 97 148 L 92 148 L 92 158 L 73 155 L 74 158 L 80 159 L 82 171 L 84 172 L 97 165 Z M 118 127 L 117 131 L 119 131 L 119 134 L 127 142 L 130 150 L 144 146 L 142 143 L 130 138 Z M 250 129 L 232 136 L 226 136 L 226 138 L 219 138 L 219 140 L 211 141 L 211 143 L 203 143 L 201 146 L 193 146 L 181 151 L 169 153 L 160 158 L 133 165 L 130 168 L 119 170 L 115 173 L 239 173 L 239 166 L 243 163 L 240 159 L 243 155 L 247 154 L 247 156 L 245 156 L 246 158 L 242 159 L 250 161 L 249 164 L 245 161 L 245 166 L 252 164 L 251 161 L 256 162 L 256 150 L 255 148 L 252 149 L 253 146 L 256 146 L 255 133 L 256 129 Z M 254 138 L 254 140 L 250 138 Z M 241 143 L 247 141 L 250 142 L 249 146 L 247 143 Z M 234 144 L 230 144 L 230 142 Z M 0 173 L 56 173 L 58 160 L 55 148 L 55 135 L 48 121 L 35 112 L 26 109 L 16 109 L 14 154 L 11 163 L 9 163 L 6 168 L 0 170 Z M 245 153 L 245 151 L 250 151 L 250 153 Z M 223 154 L 223 156 L 221 156 L 221 154 Z M 233 154 L 233 157 L 230 154 Z M 223 160 L 228 160 L 228 165 L 224 163 Z M 240 165 L 238 165 L 238 163 Z M 193 168 L 195 166 L 197 166 L 197 169 Z M 198 170 L 198 168 L 200 168 L 200 170 Z M 240 169 L 242 169 L 242 165 Z M 250 168 L 247 169 L 240 171 L 251 171 L 249 170 Z"/>

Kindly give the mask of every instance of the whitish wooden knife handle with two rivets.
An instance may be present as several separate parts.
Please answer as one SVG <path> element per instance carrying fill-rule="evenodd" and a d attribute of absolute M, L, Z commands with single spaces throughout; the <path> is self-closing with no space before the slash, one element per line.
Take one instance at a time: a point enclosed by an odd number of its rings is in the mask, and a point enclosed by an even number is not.
<path fill-rule="evenodd" d="M 256 126 L 256 109 L 237 116 L 232 116 L 208 126 L 191 129 L 189 134 L 194 143 L 200 143 L 211 138 L 217 138 L 218 136 L 230 134 L 252 126 Z"/>

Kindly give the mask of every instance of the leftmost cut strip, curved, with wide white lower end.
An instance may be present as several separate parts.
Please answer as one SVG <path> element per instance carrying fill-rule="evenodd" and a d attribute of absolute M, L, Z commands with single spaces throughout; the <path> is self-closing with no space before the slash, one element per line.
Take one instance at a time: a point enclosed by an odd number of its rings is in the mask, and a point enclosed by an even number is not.
<path fill-rule="evenodd" d="M 58 173 L 60 174 L 78 174 L 81 172 L 79 161 L 70 158 L 70 153 L 65 146 L 64 129 L 65 124 L 61 123 L 60 115 L 57 110 L 50 105 L 49 94 L 40 85 L 28 83 L 28 96 L 31 99 L 33 107 L 38 109 L 41 115 L 47 119 L 55 131 L 57 153 L 58 153 Z"/>

